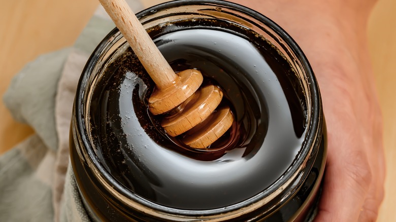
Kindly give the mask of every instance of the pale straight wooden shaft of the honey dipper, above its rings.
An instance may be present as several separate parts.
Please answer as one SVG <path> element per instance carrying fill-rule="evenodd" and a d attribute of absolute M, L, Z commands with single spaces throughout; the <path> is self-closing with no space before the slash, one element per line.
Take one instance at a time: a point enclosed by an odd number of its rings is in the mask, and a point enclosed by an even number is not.
<path fill-rule="evenodd" d="M 147 31 L 124 0 L 99 0 L 118 27 L 155 85 L 161 90 L 172 86 L 179 76 L 159 52 Z"/>

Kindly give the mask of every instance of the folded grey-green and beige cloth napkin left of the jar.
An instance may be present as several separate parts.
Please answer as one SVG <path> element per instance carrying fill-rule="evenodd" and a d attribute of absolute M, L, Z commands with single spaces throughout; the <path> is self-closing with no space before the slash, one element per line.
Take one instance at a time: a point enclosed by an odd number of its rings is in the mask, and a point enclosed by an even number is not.
<path fill-rule="evenodd" d="M 142 10 L 139 0 L 127 2 Z M 89 221 L 70 166 L 69 127 L 82 69 L 114 27 L 99 7 L 73 47 L 38 57 L 11 82 L 4 102 L 35 134 L 0 156 L 0 221 Z"/>

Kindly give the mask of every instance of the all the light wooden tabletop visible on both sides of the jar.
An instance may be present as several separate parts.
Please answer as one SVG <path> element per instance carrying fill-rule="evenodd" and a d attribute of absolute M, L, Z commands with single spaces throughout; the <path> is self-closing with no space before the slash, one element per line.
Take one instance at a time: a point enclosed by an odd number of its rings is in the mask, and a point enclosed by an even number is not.
<path fill-rule="evenodd" d="M 163 2 L 143 1 L 145 7 Z M 0 0 L 0 95 L 12 77 L 38 55 L 71 46 L 92 16 L 96 0 Z M 379 0 L 369 25 L 369 41 L 384 119 L 386 194 L 378 221 L 396 221 L 396 1 Z M 0 154 L 32 133 L 16 123 L 0 103 Z"/>

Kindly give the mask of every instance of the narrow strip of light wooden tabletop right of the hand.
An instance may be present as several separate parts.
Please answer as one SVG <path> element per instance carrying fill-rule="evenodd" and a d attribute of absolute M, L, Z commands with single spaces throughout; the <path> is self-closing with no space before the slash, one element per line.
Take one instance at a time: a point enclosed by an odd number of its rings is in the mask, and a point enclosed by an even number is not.
<path fill-rule="evenodd" d="M 385 199 L 378 221 L 396 221 L 396 1 L 380 0 L 369 23 L 370 53 L 382 108 L 386 158 Z"/>

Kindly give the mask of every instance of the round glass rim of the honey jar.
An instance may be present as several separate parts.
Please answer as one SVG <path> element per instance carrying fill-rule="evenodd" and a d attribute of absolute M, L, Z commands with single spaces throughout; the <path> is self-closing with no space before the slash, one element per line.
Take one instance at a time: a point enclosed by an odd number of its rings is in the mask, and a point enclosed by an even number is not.
<path fill-rule="evenodd" d="M 177 209 L 177 208 L 172 208 L 172 207 L 167 207 L 163 206 L 160 204 L 156 204 L 154 202 L 151 202 L 143 197 L 140 197 L 139 195 L 134 194 L 133 192 L 129 191 L 128 189 L 124 188 L 121 184 L 119 184 L 118 181 L 116 181 L 111 174 L 105 169 L 105 167 L 101 164 L 101 162 L 95 158 L 95 152 L 94 149 L 91 145 L 89 135 L 87 132 L 86 124 L 84 122 L 85 118 L 79 118 L 79 117 L 84 117 L 84 94 L 86 93 L 86 84 L 89 81 L 89 77 L 91 75 L 91 71 L 98 61 L 101 52 L 103 52 L 104 49 L 106 49 L 107 45 L 109 44 L 109 39 L 114 38 L 115 35 L 120 34 L 118 29 L 115 28 L 113 29 L 105 38 L 104 40 L 97 46 L 97 48 L 93 51 L 91 54 L 90 58 L 88 59 L 88 62 L 86 66 L 84 67 L 84 70 L 82 72 L 82 76 L 79 80 L 78 87 L 77 87 L 77 93 L 76 93 L 76 104 L 75 104 L 75 114 L 76 114 L 76 126 L 77 126 L 77 131 L 80 134 L 79 136 L 81 137 L 84 147 L 86 147 L 88 158 L 90 161 L 92 161 L 93 165 L 96 167 L 96 170 L 100 172 L 105 179 L 112 183 L 114 188 L 117 189 L 117 191 L 124 195 L 125 197 L 131 198 L 132 200 L 138 202 L 139 204 L 142 204 L 144 206 L 153 208 L 157 211 L 164 211 L 167 213 L 175 213 L 175 214 L 182 214 L 182 215 L 212 215 L 212 214 L 220 214 L 220 213 L 226 213 L 235 209 L 239 208 L 244 208 L 248 205 L 251 205 L 252 203 L 255 203 L 259 201 L 262 198 L 265 198 L 269 196 L 269 194 L 273 193 L 275 190 L 277 190 L 279 187 L 281 187 L 283 184 L 287 182 L 289 177 L 292 175 L 295 175 L 298 173 L 299 170 L 301 170 L 301 165 L 303 165 L 304 161 L 311 155 L 312 149 L 314 147 L 314 144 L 317 142 L 316 137 L 318 135 L 321 135 L 322 131 L 322 121 L 323 117 L 321 114 L 322 110 L 322 104 L 321 104 L 321 99 L 320 99 L 320 92 L 319 88 L 317 86 L 316 79 L 314 77 L 313 70 L 304 55 L 303 51 L 301 48 L 295 43 L 295 41 L 291 38 L 289 34 L 286 33 L 285 30 L 283 30 L 279 25 L 277 25 L 274 21 L 269 19 L 268 17 L 252 10 L 247 7 L 235 4 L 235 3 L 230 3 L 226 1 L 220 1 L 220 0 L 176 0 L 173 2 L 168 2 L 168 3 L 163 3 L 154 7 L 151 7 L 149 9 L 143 10 L 139 13 L 137 13 L 137 17 L 139 19 L 144 18 L 145 16 L 148 16 L 150 14 L 156 13 L 158 11 L 168 9 L 168 8 L 174 8 L 174 7 L 185 7 L 189 5 L 218 5 L 220 7 L 229 7 L 234 10 L 237 10 L 245 15 L 248 15 L 263 24 L 267 25 L 267 27 L 271 28 L 273 31 L 275 31 L 279 37 L 287 43 L 288 47 L 293 50 L 293 54 L 299 58 L 299 61 L 301 62 L 301 65 L 306 73 L 306 76 L 308 79 L 306 81 L 308 82 L 308 89 L 311 92 L 311 116 L 309 120 L 309 127 L 306 132 L 306 136 L 304 139 L 304 142 L 302 144 L 299 157 L 296 158 L 296 160 L 293 161 L 292 165 L 285 171 L 283 174 L 283 177 L 279 178 L 276 180 L 276 182 L 268 187 L 267 189 L 263 190 L 262 192 L 256 194 L 255 196 L 241 201 L 239 203 L 227 206 L 227 207 L 221 207 L 221 208 L 216 208 L 216 209 L 209 209 L 209 210 L 184 210 L 184 209 Z"/>

